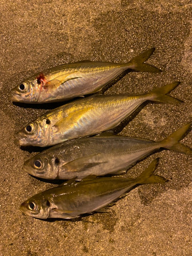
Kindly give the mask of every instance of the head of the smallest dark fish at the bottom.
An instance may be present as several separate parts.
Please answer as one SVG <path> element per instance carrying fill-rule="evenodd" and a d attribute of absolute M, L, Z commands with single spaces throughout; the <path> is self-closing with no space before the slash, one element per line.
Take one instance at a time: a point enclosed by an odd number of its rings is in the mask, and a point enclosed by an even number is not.
<path fill-rule="evenodd" d="M 50 202 L 39 193 L 23 202 L 20 210 L 31 217 L 47 219 L 50 215 Z"/>

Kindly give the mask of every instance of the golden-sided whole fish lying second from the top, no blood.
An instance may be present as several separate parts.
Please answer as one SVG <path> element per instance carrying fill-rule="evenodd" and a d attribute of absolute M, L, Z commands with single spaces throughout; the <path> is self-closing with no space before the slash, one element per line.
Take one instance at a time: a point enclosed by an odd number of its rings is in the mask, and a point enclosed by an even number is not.
<path fill-rule="evenodd" d="M 145 94 L 92 95 L 72 101 L 27 124 L 15 134 L 15 144 L 45 147 L 113 129 L 146 100 L 181 103 L 165 95 L 179 84 L 166 84 Z"/>

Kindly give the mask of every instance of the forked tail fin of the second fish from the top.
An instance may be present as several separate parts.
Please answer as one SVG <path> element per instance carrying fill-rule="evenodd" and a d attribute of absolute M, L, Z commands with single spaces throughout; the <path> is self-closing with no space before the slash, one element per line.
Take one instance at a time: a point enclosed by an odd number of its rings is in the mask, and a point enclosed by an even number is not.
<path fill-rule="evenodd" d="M 172 83 L 166 84 L 166 86 L 153 89 L 152 91 L 148 92 L 146 96 L 149 96 L 150 97 L 149 100 L 153 100 L 153 101 L 170 103 L 170 104 L 180 104 L 183 101 L 166 95 L 170 91 L 174 90 L 179 84 L 180 82 L 172 82 Z"/>

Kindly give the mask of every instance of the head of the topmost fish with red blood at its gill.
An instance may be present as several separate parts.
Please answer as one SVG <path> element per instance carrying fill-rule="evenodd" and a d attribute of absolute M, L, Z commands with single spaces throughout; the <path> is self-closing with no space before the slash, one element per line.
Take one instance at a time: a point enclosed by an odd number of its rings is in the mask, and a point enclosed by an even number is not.
<path fill-rule="evenodd" d="M 13 88 L 10 92 L 9 100 L 23 103 L 39 103 L 40 92 L 46 82 L 47 79 L 44 73 L 35 74 Z"/>

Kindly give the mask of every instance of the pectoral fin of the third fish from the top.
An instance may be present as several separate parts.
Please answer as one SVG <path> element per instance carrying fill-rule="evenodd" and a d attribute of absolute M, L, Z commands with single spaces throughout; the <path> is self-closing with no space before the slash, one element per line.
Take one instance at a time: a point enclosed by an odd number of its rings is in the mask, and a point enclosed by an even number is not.
<path fill-rule="evenodd" d="M 69 172 L 77 172 L 78 170 L 81 170 L 82 168 L 86 167 L 87 165 L 92 164 L 92 163 L 88 163 L 88 160 L 90 160 L 94 156 L 98 156 L 99 154 L 94 154 L 91 156 L 84 156 L 84 157 L 77 158 L 77 159 L 63 165 L 62 167 L 65 169 L 67 168 Z M 93 164 L 98 165 L 100 163 L 93 163 Z"/>

